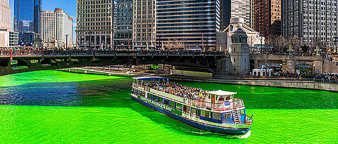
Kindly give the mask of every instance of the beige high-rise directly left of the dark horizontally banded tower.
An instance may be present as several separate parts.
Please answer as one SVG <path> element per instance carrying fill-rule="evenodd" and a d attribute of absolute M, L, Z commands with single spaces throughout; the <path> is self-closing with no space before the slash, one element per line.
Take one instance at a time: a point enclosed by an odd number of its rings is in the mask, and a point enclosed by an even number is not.
<path fill-rule="evenodd" d="M 155 48 L 156 0 L 133 0 L 132 43 L 136 48 Z"/>

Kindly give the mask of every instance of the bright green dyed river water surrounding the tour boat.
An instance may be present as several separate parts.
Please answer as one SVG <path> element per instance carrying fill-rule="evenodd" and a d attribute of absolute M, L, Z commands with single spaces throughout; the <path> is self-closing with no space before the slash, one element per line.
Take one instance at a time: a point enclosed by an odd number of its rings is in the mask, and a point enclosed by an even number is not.
<path fill-rule="evenodd" d="M 194 129 L 130 98 L 130 78 L 58 71 L 0 77 L 0 143 L 338 143 L 338 93 L 178 81 L 237 91 L 251 136 Z"/>

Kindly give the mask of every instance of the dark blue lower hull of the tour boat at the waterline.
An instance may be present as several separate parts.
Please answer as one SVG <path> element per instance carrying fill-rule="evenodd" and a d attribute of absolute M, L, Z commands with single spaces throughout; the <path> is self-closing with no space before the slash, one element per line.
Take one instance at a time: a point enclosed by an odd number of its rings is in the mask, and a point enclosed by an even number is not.
<path fill-rule="evenodd" d="M 146 103 L 143 100 L 140 100 L 138 98 L 135 98 L 134 96 L 132 96 L 132 99 L 137 101 L 138 103 L 141 103 L 142 105 L 146 105 L 147 107 L 150 107 L 158 112 L 161 112 L 165 115 L 167 115 L 168 117 L 172 117 L 174 119 L 177 119 L 178 121 L 184 123 L 184 124 L 188 124 L 189 126 L 192 126 L 194 128 L 197 129 L 202 129 L 204 131 L 211 131 L 211 132 L 215 132 L 215 133 L 224 133 L 224 134 L 228 134 L 228 135 L 243 135 L 246 134 L 248 131 L 250 131 L 250 127 L 249 129 L 229 129 L 229 128 L 221 128 L 221 127 L 216 127 L 216 126 L 209 126 L 206 124 L 201 124 L 199 122 L 194 122 L 192 120 L 186 119 L 184 117 L 180 117 L 177 114 L 173 114 L 172 112 L 168 112 L 167 110 L 163 110 L 160 107 L 156 107 L 155 105 L 151 105 L 150 103 Z"/>

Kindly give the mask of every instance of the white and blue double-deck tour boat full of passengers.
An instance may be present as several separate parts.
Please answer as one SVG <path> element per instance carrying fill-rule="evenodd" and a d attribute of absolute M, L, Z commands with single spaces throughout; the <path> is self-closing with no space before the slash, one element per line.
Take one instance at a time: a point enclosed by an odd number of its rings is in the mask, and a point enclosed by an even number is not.
<path fill-rule="evenodd" d="M 230 91 L 204 91 L 163 77 L 134 77 L 131 93 L 133 100 L 205 131 L 244 135 L 253 122 L 243 100 Z"/>

